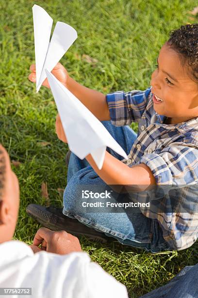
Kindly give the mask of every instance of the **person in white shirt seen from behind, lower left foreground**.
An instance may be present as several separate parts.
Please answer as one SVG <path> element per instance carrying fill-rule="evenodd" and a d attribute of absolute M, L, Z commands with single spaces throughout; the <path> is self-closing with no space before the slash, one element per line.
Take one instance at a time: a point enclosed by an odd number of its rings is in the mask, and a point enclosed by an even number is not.
<path fill-rule="evenodd" d="M 124 285 L 105 273 L 87 254 L 78 239 L 65 231 L 40 228 L 33 245 L 11 241 L 19 207 L 19 186 L 9 156 L 0 145 L 0 295 L 31 294 L 6 288 L 31 288 L 33 298 L 125 297 Z M 42 248 L 39 248 L 39 245 Z M 32 249 L 31 249 L 32 248 Z M 37 252 L 35 255 L 34 253 Z M 102 286 L 101 286 L 102 284 Z M 3 289 L 4 288 L 4 289 Z M 18 293 L 18 295 L 17 295 Z M 21 294 L 20 294 L 21 293 Z"/>

